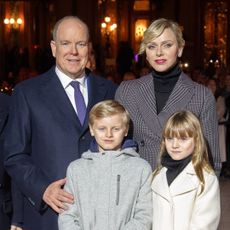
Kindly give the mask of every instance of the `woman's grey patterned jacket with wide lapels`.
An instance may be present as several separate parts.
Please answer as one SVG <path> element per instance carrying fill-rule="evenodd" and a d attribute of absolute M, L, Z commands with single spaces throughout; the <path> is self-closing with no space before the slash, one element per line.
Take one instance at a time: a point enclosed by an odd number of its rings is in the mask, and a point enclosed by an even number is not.
<path fill-rule="evenodd" d="M 130 113 L 133 138 L 138 142 L 139 153 L 156 168 L 160 152 L 163 126 L 175 112 L 189 110 L 200 119 L 204 135 L 213 156 L 216 171 L 220 171 L 218 122 L 216 102 L 211 91 L 184 73 L 179 77 L 169 99 L 157 114 L 152 74 L 133 81 L 124 81 L 117 89 L 115 99 Z"/>

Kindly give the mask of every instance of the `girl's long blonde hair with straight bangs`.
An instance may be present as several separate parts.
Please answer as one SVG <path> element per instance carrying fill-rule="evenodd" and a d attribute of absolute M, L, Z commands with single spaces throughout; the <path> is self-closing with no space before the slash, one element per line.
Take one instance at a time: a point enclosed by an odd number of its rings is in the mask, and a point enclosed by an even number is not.
<path fill-rule="evenodd" d="M 205 181 L 203 170 L 207 172 L 213 172 L 213 168 L 209 163 L 208 159 L 208 147 L 205 137 L 202 132 L 202 126 L 199 119 L 189 111 L 180 111 L 174 113 L 166 122 L 163 132 L 162 141 L 160 149 L 160 159 L 158 162 L 157 169 L 154 171 L 153 175 L 156 176 L 160 169 L 162 155 L 167 152 L 165 146 L 165 138 L 194 138 L 194 151 L 192 153 L 192 164 L 196 175 L 201 184 L 201 192 L 204 190 Z"/>

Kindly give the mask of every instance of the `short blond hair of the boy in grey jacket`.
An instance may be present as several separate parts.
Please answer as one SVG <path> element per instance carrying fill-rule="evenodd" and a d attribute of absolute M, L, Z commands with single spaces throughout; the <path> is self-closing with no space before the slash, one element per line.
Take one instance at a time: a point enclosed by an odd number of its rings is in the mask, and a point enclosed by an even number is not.
<path fill-rule="evenodd" d="M 128 111 L 115 100 L 105 100 L 93 106 L 89 113 L 89 124 L 92 126 L 94 121 L 113 115 L 121 115 L 126 127 L 129 127 L 130 116 Z"/>

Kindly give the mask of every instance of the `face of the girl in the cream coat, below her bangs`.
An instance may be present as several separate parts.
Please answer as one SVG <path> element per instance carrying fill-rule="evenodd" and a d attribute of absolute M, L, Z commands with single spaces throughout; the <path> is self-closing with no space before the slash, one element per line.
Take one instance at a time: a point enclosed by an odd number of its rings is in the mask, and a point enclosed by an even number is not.
<path fill-rule="evenodd" d="M 182 160 L 191 155 L 194 151 L 194 138 L 165 138 L 165 147 L 173 160 Z"/>

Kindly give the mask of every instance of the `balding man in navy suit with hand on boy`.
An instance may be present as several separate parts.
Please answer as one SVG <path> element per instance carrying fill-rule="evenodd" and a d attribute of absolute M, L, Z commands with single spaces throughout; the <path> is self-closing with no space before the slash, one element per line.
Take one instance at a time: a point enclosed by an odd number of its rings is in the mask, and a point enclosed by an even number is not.
<path fill-rule="evenodd" d="M 66 168 L 89 147 L 88 112 L 112 99 L 116 86 L 86 74 L 89 32 L 75 16 L 59 20 L 51 49 L 56 66 L 18 84 L 6 127 L 5 167 L 23 194 L 23 230 L 57 230 L 57 214 L 73 196 L 62 188 Z M 83 123 L 72 81 L 80 84 L 86 104 Z M 17 226 L 17 223 L 15 223 Z"/>

